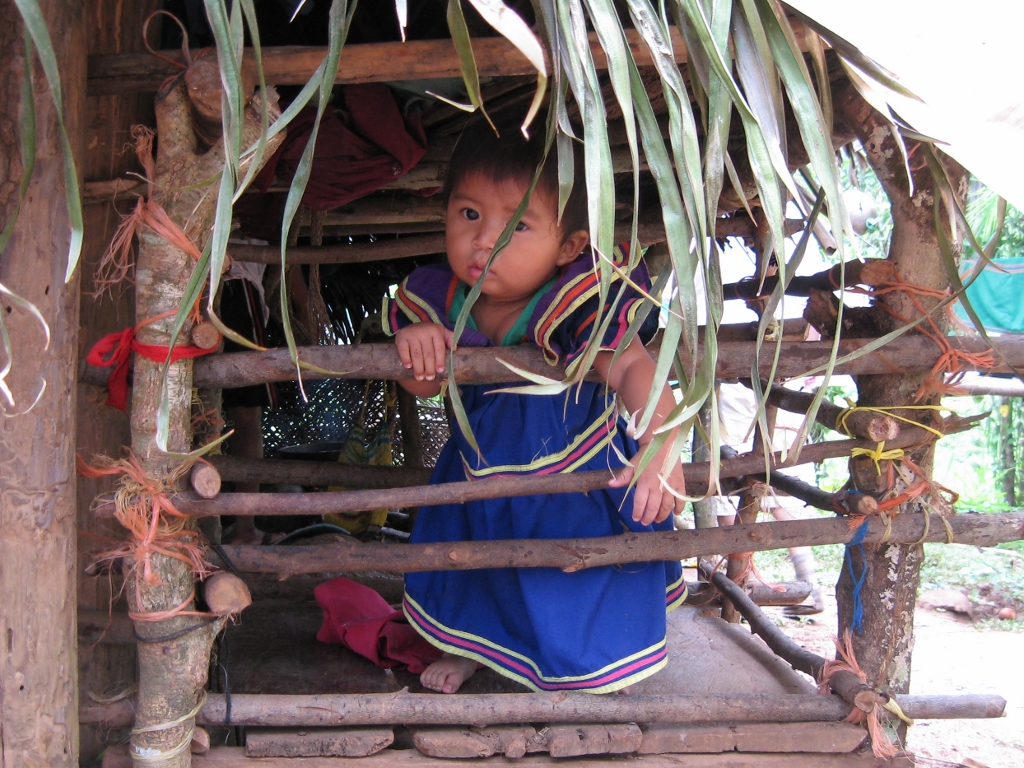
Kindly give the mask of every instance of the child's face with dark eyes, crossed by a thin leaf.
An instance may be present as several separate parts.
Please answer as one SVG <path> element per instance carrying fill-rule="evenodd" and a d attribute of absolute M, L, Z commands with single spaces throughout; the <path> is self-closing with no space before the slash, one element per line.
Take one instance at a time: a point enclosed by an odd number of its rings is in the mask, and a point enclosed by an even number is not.
<path fill-rule="evenodd" d="M 525 191 L 526 184 L 495 183 L 481 174 L 464 177 L 452 190 L 444 242 L 452 271 L 464 283 L 473 286 L 479 280 Z M 497 301 L 528 299 L 558 267 L 573 261 L 587 241 L 581 230 L 563 242 L 556 201 L 535 191 L 511 242 L 490 265 L 481 293 Z"/>

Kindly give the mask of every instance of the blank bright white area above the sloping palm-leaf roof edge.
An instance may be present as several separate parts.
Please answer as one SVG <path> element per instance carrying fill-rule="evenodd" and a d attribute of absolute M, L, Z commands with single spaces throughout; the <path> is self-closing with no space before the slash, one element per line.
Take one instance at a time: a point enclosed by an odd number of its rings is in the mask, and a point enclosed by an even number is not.
<path fill-rule="evenodd" d="M 924 103 L 887 91 L 892 109 L 1024 210 L 1024 3 L 786 1 L 894 72 Z"/>

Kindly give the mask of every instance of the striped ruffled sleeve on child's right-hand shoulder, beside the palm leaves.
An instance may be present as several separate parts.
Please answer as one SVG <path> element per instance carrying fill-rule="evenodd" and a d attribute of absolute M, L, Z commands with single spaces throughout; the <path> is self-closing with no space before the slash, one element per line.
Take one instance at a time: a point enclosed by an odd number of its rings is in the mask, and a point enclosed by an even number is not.
<path fill-rule="evenodd" d="M 626 265 L 626 246 L 615 249 L 614 260 Z M 630 280 L 643 291 L 650 290 L 650 274 L 643 261 L 630 273 Z M 600 278 L 592 257 L 583 254 L 566 267 L 530 319 L 529 338 L 544 351 L 548 362 L 569 365 L 587 348 L 598 321 L 599 303 Z M 634 286 L 626 284 L 624 288 L 621 276 L 612 278 L 600 319 L 603 324 L 608 312 L 612 315 L 600 340 L 602 350 L 615 348 L 645 303 L 650 311 L 637 334 L 644 344 L 657 332 L 657 307 L 652 307 Z"/>

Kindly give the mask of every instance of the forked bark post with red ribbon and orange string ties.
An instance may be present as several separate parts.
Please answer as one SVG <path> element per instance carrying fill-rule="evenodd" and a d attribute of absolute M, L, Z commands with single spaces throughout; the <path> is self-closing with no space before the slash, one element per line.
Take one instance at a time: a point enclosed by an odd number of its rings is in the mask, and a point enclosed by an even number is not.
<path fill-rule="evenodd" d="M 216 56 L 201 56 L 189 65 L 158 93 L 160 141 L 156 158 L 153 132 L 141 128 L 133 132 L 150 181 L 148 193 L 126 219 L 101 265 L 108 278 L 116 280 L 130 256 L 132 236 L 137 237 L 135 316 L 140 322 L 104 339 L 90 355 L 100 365 L 114 367 L 111 404 L 124 408 L 129 354 L 135 352 L 130 458 L 86 472 L 123 476 L 118 517 L 129 535 L 127 594 L 138 639 L 138 697 L 131 753 L 136 762 L 144 760 L 151 768 L 188 765 L 210 647 L 223 624 L 223 616 L 196 609 L 196 579 L 205 574 L 205 566 L 194 520 L 178 513 L 170 500 L 185 482 L 185 467 L 171 454 L 187 454 L 193 449 L 193 358 L 211 351 L 189 343 L 191 327 L 201 318 L 198 300 L 177 338 L 172 337 L 173 326 L 211 234 L 217 206 L 215 180 L 225 162 L 222 142 L 202 152 L 205 147 L 201 147 L 191 118 L 194 94 L 186 86 L 196 76 L 219 83 Z M 216 102 L 220 103 L 219 95 Z M 269 112 L 274 118 L 276 105 L 269 104 Z M 259 131 L 260 118 L 250 104 L 242 130 L 243 145 L 254 143 Z M 281 137 L 269 142 L 265 157 L 272 154 Z M 97 278 L 100 285 L 103 280 L 102 275 Z M 156 441 L 162 399 L 170 454 L 161 451 Z"/>

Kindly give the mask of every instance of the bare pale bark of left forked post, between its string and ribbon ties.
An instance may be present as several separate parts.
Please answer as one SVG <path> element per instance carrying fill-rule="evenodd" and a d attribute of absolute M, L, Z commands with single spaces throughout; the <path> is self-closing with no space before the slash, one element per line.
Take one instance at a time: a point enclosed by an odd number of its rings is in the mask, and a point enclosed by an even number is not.
<path fill-rule="evenodd" d="M 213 66 L 204 59 L 198 59 L 198 63 Z M 157 183 L 151 203 L 162 206 L 202 251 L 210 237 L 217 204 L 216 187 L 203 182 L 215 179 L 222 169 L 223 144 L 216 144 L 205 155 L 198 154 L 183 77 L 165 86 L 157 96 Z M 243 146 L 252 144 L 258 132 L 259 119 L 250 110 Z M 267 157 L 273 154 L 274 145 L 267 147 Z M 140 342 L 162 346 L 171 343 L 173 313 L 184 300 L 194 267 L 195 261 L 185 251 L 155 231 L 145 229 L 139 234 L 135 316 L 139 324 L 145 324 L 137 335 Z M 167 314 L 170 316 L 163 316 Z M 160 319 L 146 323 L 154 317 Z M 190 324 L 186 324 L 176 343 L 187 343 L 189 331 Z M 156 444 L 162 367 L 161 362 L 136 355 L 132 391 L 132 452 L 142 468 L 157 477 L 176 464 Z M 171 453 L 191 449 L 191 360 L 171 364 L 167 374 L 167 447 Z M 163 613 L 180 607 L 194 610 L 196 585 L 190 566 L 158 553 L 150 558 L 153 577 L 148 580 L 143 575 L 142 561 L 131 563 L 130 609 L 135 613 Z M 197 617 L 187 615 L 135 622 L 139 678 L 131 752 L 136 764 L 146 768 L 186 768 L 191 764 L 187 742 L 195 726 L 194 713 L 206 685 L 211 643 L 222 620 L 200 624 Z"/>

